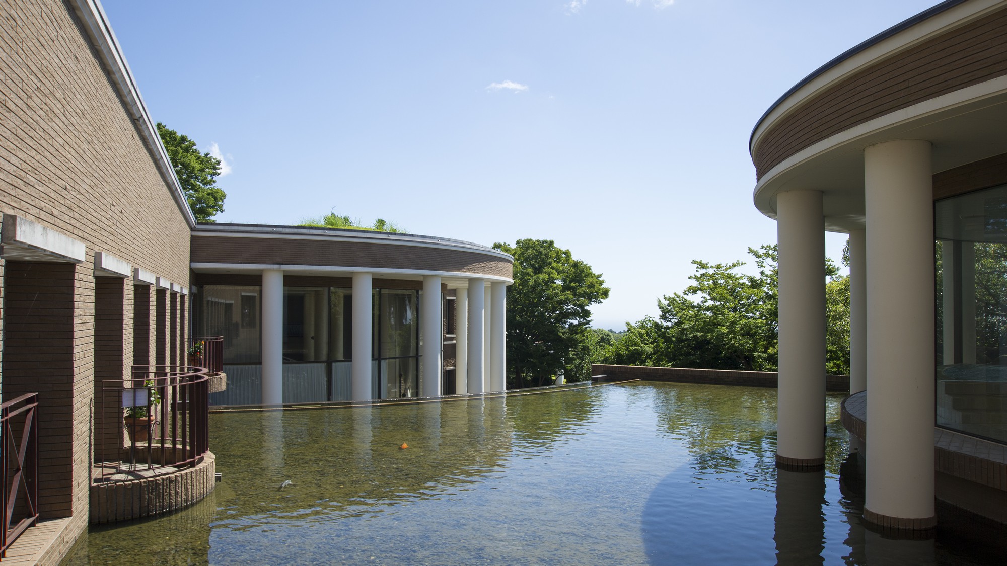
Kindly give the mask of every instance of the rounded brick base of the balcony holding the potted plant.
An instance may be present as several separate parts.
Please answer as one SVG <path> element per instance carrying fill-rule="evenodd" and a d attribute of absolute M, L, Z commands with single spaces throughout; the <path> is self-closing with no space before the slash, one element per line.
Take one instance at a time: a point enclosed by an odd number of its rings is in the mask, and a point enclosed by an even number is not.
<path fill-rule="evenodd" d="M 206 452 L 194 467 L 174 473 L 91 485 L 91 522 L 115 523 L 182 509 L 206 497 L 217 480 L 217 458 Z"/>

